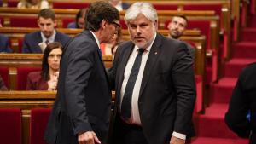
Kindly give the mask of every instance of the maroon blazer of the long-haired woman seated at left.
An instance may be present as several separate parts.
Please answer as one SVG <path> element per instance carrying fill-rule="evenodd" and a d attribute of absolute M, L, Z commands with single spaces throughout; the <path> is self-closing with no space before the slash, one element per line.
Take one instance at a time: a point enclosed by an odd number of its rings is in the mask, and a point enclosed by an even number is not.
<path fill-rule="evenodd" d="M 30 72 L 27 75 L 26 90 L 47 90 L 48 84 L 40 72 Z"/>

